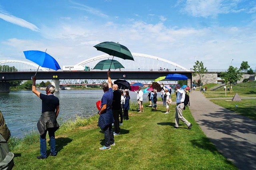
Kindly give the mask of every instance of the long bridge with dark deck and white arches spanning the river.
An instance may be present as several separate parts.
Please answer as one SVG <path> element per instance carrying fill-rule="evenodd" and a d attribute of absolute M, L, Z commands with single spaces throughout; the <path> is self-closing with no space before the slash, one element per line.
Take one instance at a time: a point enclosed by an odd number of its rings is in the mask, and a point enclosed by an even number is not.
<path fill-rule="evenodd" d="M 160 57 L 146 55 L 141 53 L 132 53 L 134 61 L 124 60 L 114 57 L 124 65 L 125 69 L 111 70 L 111 78 L 126 80 L 152 81 L 160 76 L 166 76 L 170 73 L 180 73 L 188 77 L 188 84 L 192 84 L 192 70 L 186 69 L 177 63 L 162 59 Z M 76 65 L 86 65 L 90 71 L 54 71 L 39 67 L 36 75 L 38 80 L 53 79 L 54 85 L 58 87 L 60 81 L 62 84 L 81 84 L 84 79 L 87 80 L 106 80 L 106 71 L 93 70 L 92 68 L 103 59 L 112 59 L 110 55 L 98 55 L 77 63 Z M 3 60 L 0 61 L 0 92 L 8 92 L 8 81 L 29 80 L 34 75 L 38 65 L 27 61 Z M 67 80 L 74 80 L 73 82 Z M 99 81 L 100 82 L 100 81 Z M 148 83 L 148 82 L 145 82 Z"/>

